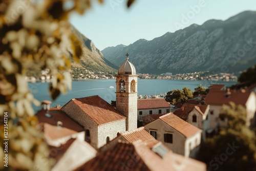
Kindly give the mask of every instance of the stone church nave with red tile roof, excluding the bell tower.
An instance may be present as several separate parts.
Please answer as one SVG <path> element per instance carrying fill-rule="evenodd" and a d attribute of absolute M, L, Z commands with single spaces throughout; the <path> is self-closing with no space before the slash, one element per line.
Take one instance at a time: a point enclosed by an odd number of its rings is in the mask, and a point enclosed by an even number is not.
<path fill-rule="evenodd" d="M 99 148 L 126 131 L 126 117 L 99 96 L 71 99 L 61 110 L 86 130 L 86 140 Z"/>

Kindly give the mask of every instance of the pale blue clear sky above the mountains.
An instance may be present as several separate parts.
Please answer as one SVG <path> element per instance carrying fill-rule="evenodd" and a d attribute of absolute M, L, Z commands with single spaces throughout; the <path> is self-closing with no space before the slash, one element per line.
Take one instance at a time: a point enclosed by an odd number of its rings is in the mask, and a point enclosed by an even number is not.
<path fill-rule="evenodd" d="M 92 0 L 93 1 L 93 0 Z M 255 0 L 126 0 L 93 3 L 84 15 L 73 14 L 71 23 L 91 39 L 99 50 L 119 44 L 130 45 L 140 38 L 152 40 L 191 24 L 209 19 L 226 20 L 240 12 L 256 11 Z"/>

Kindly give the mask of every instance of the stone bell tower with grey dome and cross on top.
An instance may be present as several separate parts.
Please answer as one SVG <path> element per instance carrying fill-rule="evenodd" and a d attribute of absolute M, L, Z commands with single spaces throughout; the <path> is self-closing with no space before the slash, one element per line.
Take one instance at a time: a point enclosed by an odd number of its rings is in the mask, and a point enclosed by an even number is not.
<path fill-rule="evenodd" d="M 126 53 L 126 61 L 123 62 L 116 75 L 116 109 L 124 114 L 126 130 L 137 128 L 137 84 L 138 75 Z"/>

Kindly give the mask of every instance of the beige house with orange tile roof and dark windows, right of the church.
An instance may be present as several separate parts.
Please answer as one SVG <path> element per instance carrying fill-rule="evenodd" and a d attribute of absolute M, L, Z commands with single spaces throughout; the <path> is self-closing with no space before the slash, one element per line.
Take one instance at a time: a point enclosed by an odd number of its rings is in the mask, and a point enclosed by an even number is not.
<path fill-rule="evenodd" d="M 185 157 L 189 157 L 190 152 L 201 143 L 202 131 L 173 113 L 160 116 L 144 128 L 174 153 Z"/>

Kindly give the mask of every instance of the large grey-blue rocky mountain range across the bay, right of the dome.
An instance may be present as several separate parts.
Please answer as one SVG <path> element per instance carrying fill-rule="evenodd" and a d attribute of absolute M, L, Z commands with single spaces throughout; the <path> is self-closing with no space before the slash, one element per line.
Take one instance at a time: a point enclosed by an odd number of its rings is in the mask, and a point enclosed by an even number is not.
<path fill-rule="evenodd" d="M 101 51 L 119 66 L 129 60 L 140 73 L 211 71 L 236 73 L 256 63 L 256 12 L 245 11 L 225 21 L 211 19 L 153 40 Z"/>

